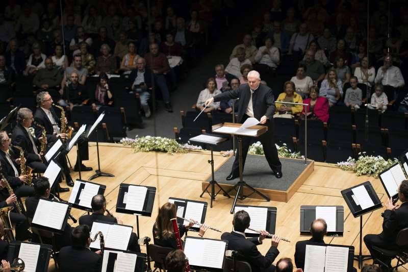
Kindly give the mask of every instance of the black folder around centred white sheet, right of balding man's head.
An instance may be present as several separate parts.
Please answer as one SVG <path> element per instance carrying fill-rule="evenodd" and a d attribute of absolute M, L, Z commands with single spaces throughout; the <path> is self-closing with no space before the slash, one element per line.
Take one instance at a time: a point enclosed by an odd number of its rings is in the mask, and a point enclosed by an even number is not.
<path fill-rule="evenodd" d="M 146 198 L 144 199 L 143 210 L 133 211 L 133 210 L 126 210 L 125 209 L 126 204 L 123 203 L 124 193 L 127 192 L 127 190 L 129 189 L 129 186 L 141 186 L 141 185 L 133 185 L 133 184 L 126 184 L 126 183 L 120 184 L 118 199 L 116 201 L 116 212 L 143 215 L 143 216 L 151 216 L 151 212 L 153 210 L 153 204 L 155 203 L 156 187 L 143 186 L 143 187 L 147 187 Z"/>

